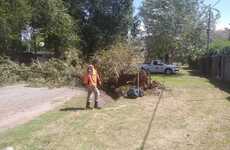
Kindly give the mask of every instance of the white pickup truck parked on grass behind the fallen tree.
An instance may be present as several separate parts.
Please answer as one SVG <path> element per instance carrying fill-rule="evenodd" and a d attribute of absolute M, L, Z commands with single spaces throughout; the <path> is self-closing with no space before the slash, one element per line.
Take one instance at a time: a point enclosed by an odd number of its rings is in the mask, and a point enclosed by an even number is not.
<path fill-rule="evenodd" d="M 179 71 L 179 68 L 176 65 L 167 65 L 160 60 L 153 60 L 149 64 L 142 64 L 141 68 L 149 73 L 175 74 Z"/>

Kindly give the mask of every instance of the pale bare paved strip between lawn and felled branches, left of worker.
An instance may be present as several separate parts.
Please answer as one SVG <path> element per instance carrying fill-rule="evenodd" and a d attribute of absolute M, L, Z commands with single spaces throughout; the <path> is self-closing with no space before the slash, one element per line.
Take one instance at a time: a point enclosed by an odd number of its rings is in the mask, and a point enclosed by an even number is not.
<path fill-rule="evenodd" d="M 25 123 L 63 104 L 74 96 L 85 94 L 80 88 L 31 88 L 15 85 L 0 88 L 0 132 Z"/>

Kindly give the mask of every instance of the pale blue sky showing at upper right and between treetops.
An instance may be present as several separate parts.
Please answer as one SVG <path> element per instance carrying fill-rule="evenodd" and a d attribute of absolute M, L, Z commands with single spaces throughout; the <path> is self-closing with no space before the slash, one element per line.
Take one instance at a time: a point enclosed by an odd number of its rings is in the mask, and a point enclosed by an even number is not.
<path fill-rule="evenodd" d="M 136 8 L 136 13 L 138 12 L 138 7 L 141 6 L 143 0 L 134 0 L 134 7 Z M 217 0 L 205 0 L 207 4 L 215 4 Z M 217 21 L 217 30 L 222 30 L 225 27 L 230 28 L 230 0 L 220 0 L 220 2 L 215 6 L 220 13 L 221 18 Z"/>

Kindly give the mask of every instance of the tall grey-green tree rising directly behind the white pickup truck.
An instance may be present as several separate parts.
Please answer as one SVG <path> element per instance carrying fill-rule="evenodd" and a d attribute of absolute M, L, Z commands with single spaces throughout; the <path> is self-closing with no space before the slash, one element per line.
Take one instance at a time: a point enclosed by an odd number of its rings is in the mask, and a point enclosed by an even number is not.
<path fill-rule="evenodd" d="M 181 58 L 203 49 L 206 8 L 203 0 L 145 0 L 140 15 L 150 57 Z"/>

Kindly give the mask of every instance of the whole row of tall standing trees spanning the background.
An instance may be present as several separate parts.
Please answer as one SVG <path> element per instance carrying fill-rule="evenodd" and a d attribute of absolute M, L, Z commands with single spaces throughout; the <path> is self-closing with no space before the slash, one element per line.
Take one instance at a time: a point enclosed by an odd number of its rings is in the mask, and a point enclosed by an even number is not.
<path fill-rule="evenodd" d="M 133 0 L 1 0 L 0 55 L 43 50 L 60 57 L 74 48 L 89 57 L 130 37 L 144 41 L 149 58 L 186 61 L 207 52 L 204 0 L 143 0 L 133 12 Z M 211 33 L 218 17 L 212 12 Z"/>

